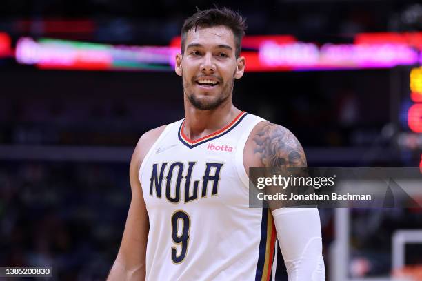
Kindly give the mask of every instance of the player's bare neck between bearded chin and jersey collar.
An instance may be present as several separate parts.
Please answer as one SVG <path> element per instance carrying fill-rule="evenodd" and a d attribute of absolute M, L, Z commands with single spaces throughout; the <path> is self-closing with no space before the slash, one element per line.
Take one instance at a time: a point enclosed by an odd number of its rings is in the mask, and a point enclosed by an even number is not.
<path fill-rule="evenodd" d="M 191 140 L 218 131 L 228 125 L 241 112 L 234 107 L 231 97 L 213 110 L 198 110 L 186 97 L 184 104 L 185 127 L 183 131 Z"/>

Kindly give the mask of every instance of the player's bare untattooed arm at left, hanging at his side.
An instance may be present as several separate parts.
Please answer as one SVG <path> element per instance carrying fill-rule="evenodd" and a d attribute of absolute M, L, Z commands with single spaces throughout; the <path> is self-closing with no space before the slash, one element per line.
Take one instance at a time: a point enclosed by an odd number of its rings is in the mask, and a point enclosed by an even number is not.
<path fill-rule="evenodd" d="M 108 281 L 145 280 L 145 254 L 148 241 L 148 212 L 139 183 L 139 167 L 165 126 L 153 129 L 141 136 L 130 160 L 130 188 L 132 200 L 126 220 L 119 253 L 114 261 Z"/>

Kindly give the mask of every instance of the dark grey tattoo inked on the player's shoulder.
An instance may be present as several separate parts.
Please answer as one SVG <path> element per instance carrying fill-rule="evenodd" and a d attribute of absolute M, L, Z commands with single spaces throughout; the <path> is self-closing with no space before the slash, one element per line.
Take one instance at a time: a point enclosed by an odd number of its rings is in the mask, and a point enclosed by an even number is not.
<path fill-rule="evenodd" d="M 265 122 L 253 137 L 254 154 L 264 167 L 306 167 L 303 148 L 285 127 Z"/>

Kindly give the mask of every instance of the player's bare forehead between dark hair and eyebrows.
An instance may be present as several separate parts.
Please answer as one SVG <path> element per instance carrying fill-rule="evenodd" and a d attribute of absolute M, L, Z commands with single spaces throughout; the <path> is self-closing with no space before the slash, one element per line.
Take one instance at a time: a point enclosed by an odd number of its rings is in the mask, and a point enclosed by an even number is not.
<path fill-rule="evenodd" d="M 213 47 L 214 45 L 230 45 L 235 49 L 234 34 L 230 28 L 223 25 L 214 26 L 212 28 L 192 29 L 186 37 L 186 44 L 200 44 L 204 47 Z"/>

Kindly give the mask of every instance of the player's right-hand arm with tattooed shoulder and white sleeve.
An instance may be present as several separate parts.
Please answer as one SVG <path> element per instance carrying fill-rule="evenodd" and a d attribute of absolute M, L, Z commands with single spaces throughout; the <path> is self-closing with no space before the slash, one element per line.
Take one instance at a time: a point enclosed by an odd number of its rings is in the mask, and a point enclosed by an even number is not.
<path fill-rule="evenodd" d="M 303 148 L 285 127 L 259 123 L 246 143 L 246 167 L 306 167 Z M 248 171 L 248 169 L 247 169 Z M 289 281 L 325 280 L 319 213 L 316 208 L 271 205 Z"/>

